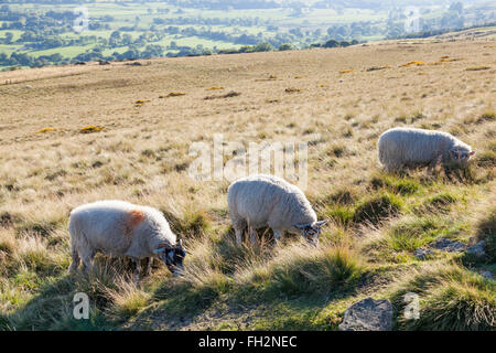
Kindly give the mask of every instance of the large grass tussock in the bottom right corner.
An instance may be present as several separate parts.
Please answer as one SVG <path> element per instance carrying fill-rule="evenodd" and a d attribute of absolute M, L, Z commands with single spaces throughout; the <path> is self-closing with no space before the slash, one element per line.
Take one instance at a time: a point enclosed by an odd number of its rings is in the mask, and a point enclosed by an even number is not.
<path fill-rule="evenodd" d="M 419 295 L 420 318 L 402 315 L 407 292 Z M 434 265 L 408 278 L 393 293 L 397 324 L 402 330 L 494 330 L 496 296 L 494 281 L 457 265 Z"/>

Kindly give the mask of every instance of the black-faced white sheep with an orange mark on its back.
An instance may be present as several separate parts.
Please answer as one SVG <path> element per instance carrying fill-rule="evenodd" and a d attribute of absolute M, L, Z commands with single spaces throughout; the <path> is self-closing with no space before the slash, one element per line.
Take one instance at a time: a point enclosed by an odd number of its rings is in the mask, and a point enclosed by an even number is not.
<path fill-rule="evenodd" d="M 80 260 L 84 269 L 89 271 L 97 252 L 111 257 L 130 257 L 136 265 L 136 280 L 140 276 L 142 258 L 149 258 L 148 274 L 154 256 L 174 276 L 183 270 L 186 253 L 182 242 L 176 243 L 175 234 L 157 208 L 123 201 L 98 201 L 74 208 L 68 229 L 72 255 L 69 272 L 77 269 Z"/>

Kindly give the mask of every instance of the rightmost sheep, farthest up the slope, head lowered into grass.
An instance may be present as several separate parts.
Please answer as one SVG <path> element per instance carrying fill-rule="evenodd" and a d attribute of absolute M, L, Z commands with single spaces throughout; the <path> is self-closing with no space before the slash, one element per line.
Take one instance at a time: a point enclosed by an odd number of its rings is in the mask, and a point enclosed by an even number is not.
<path fill-rule="evenodd" d="M 448 132 L 413 128 L 393 128 L 379 137 L 379 161 L 389 171 L 438 163 L 466 167 L 475 154 L 472 148 Z"/>

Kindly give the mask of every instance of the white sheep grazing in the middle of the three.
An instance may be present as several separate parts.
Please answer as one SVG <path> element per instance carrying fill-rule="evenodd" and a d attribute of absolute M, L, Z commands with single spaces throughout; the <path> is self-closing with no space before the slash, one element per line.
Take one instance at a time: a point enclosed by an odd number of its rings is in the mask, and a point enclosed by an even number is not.
<path fill-rule="evenodd" d="M 298 186 L 273 175 L 238 179 L 227 190 L 227 204 L 238 245 L 245 228 L 254 244 L 256 229 L 263 226 L 272 228 L 276 242 L 288 231 L 316 245 L 321 226 L 327 222 L 316 221 L 315 212 Z"/>

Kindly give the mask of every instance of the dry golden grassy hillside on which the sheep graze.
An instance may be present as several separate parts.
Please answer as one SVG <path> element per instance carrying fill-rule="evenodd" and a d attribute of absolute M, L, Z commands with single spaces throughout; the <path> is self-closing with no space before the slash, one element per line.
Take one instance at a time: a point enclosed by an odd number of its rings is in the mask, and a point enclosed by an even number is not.
<path fill-rule="evenodd" d="M 495 49 L 403 41 L 0 73 L 0 328 L 336 330 L 371 296 L 391 300 L 397 330 L 494 330 L 481 270 L 496 271 Z M 376 142 L 395 126 L 450 131 L 477 151 L 472 168 L 384 173 Z M 234 245 L 229 182 L 187 174 L 191 145 L 214 133 L 309 142 L 305 193 L 332 220 L 317 248 L 287 235 L 273 249 L 269 231 Z M 101 199 L 160 208 L 187 247 L 185 276 L 158 266 L 137 287 L 101 256 L 68 276 L 68 212 Z M 487 255 L 413 256 L 440 237 L 485 239 Z M 72 318 L 78 291 L 89 321 Z M 420 320 L 402 315 L 410 291 Z"/>

